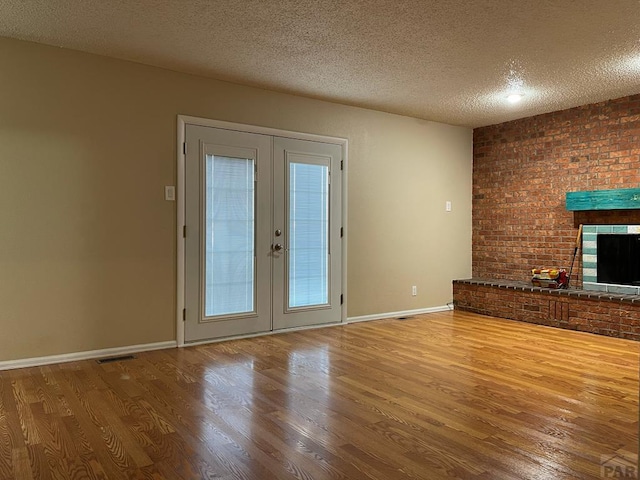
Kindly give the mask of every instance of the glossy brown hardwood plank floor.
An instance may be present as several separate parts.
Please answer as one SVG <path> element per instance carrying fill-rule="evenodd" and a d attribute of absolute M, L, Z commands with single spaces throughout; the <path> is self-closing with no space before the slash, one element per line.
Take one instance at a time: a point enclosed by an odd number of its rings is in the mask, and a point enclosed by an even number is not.
<path fill-rule="evenodd" d="M 599 479 L 639 348 L 445 312 L 4 371 L 0 480 Z"/>

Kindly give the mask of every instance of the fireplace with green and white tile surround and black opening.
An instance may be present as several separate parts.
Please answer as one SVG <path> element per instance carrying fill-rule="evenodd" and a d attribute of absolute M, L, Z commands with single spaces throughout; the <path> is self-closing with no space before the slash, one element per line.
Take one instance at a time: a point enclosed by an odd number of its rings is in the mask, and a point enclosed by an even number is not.
<path fill-rule="evenodd" d="M 640 225 L 585 225 L 585 290 L 640 295 Z"/>

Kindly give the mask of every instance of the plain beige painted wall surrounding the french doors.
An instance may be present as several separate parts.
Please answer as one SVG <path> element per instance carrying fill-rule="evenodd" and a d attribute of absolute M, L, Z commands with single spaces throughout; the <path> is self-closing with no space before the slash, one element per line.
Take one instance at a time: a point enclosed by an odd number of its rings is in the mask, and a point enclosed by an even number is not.
<path fill-rule="evenodd" d="M 178 114 L 349 139 L 350 317 L 470 276 L 470 129 L 8 39 L 0 65 L 0 361 L 175 339 Z"/>

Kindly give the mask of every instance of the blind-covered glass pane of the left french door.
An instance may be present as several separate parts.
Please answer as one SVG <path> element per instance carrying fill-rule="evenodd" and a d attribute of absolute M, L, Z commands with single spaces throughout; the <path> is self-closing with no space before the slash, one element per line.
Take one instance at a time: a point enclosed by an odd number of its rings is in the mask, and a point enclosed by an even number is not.
<path fill-rule="evenodd" d="M 254 310 L 254 160 L 206 156 L 205 316 Z"/>

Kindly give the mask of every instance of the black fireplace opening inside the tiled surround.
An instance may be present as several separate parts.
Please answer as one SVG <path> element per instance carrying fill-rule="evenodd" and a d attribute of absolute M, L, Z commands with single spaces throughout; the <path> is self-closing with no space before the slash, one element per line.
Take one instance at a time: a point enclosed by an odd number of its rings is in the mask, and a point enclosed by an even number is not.
<path fill-rule="evenodd" d="M 598 283 L 640 286 L 640 234 L 597 236 Z"/>

